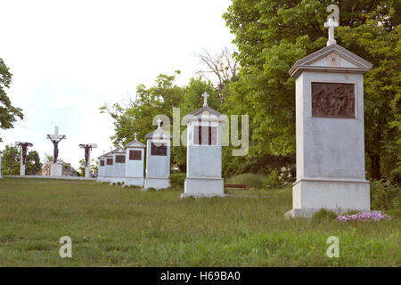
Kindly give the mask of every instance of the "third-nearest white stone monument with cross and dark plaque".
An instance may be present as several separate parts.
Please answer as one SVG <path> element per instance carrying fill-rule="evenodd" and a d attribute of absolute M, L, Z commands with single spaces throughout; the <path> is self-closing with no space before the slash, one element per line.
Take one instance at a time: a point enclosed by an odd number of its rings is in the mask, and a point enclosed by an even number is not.
<path fill-rule="evenodd" d="M 160 126 L 146 134 L 146 178 L 144 188 L 168 188 L 170 186 L 170 139 L 168 131 Z"/>

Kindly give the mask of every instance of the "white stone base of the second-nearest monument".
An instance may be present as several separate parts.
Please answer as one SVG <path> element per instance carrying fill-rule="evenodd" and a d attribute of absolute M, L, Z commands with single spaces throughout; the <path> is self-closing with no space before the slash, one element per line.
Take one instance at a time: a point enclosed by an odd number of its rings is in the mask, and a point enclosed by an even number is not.
<path fill-rule="evenodd" d="M 186 178 L 181 198 L 225 196 L 223 178 Z"/>

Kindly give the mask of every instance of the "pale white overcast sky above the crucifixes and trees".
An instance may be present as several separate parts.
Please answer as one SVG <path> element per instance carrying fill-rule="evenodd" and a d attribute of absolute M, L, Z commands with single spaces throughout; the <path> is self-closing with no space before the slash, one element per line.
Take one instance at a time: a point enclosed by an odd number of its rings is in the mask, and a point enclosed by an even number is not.
<path fill-rule="evenodd" d="M 182 74 L 185 85 L 202 49 L 233 47 L 222 15 L 229 0 L 15 1 L 0 0 L 0 58 L 12 72 L 7 94 L 24 119 L 1 131 L 0 150 L 33 142 L 53 155 L 46 134 L 67 140 L 59 158 L 78 167 L 79 143 L 97 143 L 92 158 L 110 151 L 114 134 L 104 103 L 121 102 L 160 73 Z M 201 107 L 201 106 L 200 106 Z M 140 138 L 143 140 L 143 138 Z"/>

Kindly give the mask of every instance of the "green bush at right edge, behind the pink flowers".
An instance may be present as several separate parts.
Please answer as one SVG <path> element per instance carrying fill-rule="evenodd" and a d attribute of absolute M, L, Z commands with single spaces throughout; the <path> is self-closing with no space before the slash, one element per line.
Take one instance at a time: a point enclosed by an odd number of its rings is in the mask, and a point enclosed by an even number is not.
<path fill-rule="evenodd" d="M 373 180 L 371 182 L 371 208 L 388 210 L 401 207 L 401 187 L 389 181 Z"/>

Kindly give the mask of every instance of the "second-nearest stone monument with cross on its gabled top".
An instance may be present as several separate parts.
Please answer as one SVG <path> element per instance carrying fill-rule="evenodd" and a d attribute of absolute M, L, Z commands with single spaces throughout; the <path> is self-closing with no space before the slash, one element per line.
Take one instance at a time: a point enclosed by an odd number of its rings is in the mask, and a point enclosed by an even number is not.
<path fill-rule="evenodd" d="M 182 198 L 224 196 L 221 151 L 225 116 L 208 106 L 209 94 L 202 96 L 203 107 L 183 119 L 187 124 L 187 155 Z"/>

